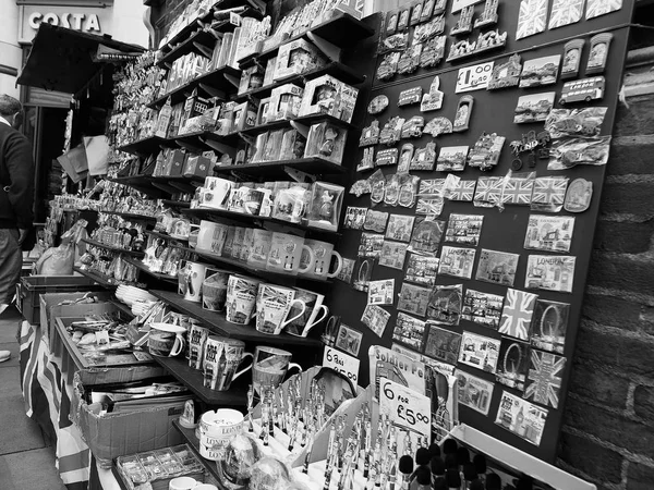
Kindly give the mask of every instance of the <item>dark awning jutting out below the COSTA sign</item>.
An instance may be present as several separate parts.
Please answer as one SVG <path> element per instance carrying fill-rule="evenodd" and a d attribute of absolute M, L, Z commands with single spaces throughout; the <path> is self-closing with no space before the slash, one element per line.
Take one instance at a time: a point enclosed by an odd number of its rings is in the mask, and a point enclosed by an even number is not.
<path fill-rule="evenodd" d="M 102 68 L 102 62 L 96 61 L 98 47 L 124 53 L 145 51 L 141 46 L 116 41 L 106 35 L 96 36 L 43 23 L 17 83 L 76 94 Z"/>

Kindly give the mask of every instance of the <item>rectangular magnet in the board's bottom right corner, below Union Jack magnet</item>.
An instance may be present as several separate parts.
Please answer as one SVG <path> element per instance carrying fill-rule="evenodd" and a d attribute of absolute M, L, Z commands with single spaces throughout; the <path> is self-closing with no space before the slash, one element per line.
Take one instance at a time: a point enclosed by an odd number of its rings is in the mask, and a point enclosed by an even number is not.
<path fill-rule="evenodd" d="M 547 411 L 508 391 L 502 391 L 495 424 L 535 446 L 541 445 Z"/>

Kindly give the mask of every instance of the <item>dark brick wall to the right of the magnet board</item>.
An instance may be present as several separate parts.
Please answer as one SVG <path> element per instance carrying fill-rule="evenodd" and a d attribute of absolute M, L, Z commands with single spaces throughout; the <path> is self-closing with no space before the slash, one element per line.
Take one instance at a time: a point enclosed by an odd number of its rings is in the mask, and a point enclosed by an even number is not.
<path fill-rule="evenodd" d="M 627 70 L 641 95 L 617 113 L 559 448 L 601 490 L 654 489 L 652 65 Z"/>

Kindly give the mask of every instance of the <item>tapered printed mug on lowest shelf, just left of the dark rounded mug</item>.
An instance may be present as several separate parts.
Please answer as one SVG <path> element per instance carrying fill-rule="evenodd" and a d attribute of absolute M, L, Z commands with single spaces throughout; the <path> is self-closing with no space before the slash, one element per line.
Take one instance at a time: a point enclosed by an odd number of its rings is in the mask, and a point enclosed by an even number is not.
<path fill-rule="evenodd" d="M 232 381 L 252 368 L 250 366 L 237 372 L 237 368 L 252 354 L 245 352 L 245 342 L 226 336 L 209 335 L 203 364 L 204 385 L 211 390 L 229 390 Z"/>

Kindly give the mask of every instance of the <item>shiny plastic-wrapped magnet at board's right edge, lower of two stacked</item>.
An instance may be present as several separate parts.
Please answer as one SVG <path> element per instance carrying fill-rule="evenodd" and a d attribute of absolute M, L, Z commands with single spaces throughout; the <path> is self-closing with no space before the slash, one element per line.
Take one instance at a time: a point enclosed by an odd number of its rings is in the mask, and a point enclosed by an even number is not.
<path fill-rule="evenodd" d="M 610 136 L 557 139 L 552 145 L 547 170 L 567 170 L 577 166 L 605 166 Z"/>

